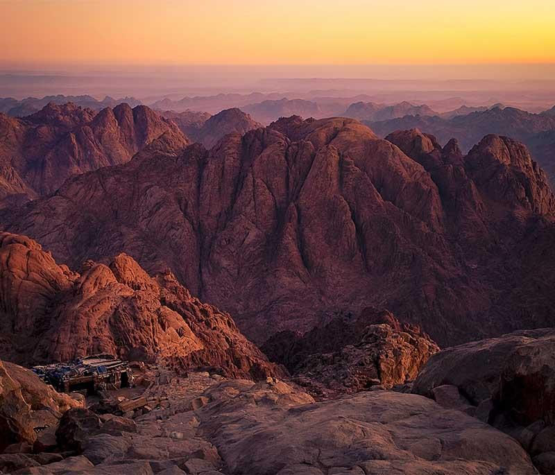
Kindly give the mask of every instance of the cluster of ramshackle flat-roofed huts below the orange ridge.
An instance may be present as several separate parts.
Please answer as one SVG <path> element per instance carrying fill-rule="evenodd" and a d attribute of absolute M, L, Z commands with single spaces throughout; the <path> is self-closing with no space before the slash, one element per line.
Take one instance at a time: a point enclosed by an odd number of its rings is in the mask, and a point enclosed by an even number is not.
<path fill-rule="evenodd" d="M 97 354 L 69 363 L 35 366 L 33 371 L 45 383 L 60 392 L 128 388 L 133 385 L 133 371 L 126 361 L 110 354 Z"/>

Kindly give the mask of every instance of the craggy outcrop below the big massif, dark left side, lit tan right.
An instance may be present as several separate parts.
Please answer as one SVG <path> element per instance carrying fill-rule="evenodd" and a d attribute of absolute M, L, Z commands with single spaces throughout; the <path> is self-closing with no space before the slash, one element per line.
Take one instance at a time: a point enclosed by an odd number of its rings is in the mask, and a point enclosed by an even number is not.
<path fill-rule="evenodd" d="M 282 331 L 262 347 L 296 382 L 326 397 L 411 381 L 438 350 L 418 327 L 376 309 L 365 309 L 358 318 L 335 318 L 303 336 Z"/>

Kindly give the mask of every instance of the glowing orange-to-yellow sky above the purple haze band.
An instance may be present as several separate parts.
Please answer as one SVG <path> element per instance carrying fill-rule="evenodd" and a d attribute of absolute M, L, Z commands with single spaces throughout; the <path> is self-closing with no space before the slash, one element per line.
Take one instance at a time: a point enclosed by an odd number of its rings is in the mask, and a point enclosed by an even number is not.
<path fill-rule="evenodd" d="M 555 62 L 554 0 L 0 0 L 0 62 Z"/>

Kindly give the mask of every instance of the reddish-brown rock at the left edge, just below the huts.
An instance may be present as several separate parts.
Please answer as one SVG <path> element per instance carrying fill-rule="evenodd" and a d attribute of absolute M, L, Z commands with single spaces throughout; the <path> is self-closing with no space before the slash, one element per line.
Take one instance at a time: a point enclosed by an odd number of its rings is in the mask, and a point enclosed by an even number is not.
<path fill-rule="evenodd" d="M 32 446 L 35 429 L 56 425 L 63 411 L 78 406 L 31 370 L 0 361 L 0 453 L 17 442 Z"/>

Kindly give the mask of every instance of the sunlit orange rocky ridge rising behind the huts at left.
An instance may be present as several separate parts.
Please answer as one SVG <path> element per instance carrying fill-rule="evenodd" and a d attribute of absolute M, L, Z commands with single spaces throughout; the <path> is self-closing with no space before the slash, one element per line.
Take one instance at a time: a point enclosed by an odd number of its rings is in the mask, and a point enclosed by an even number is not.
<path fill-rule="evenodd" d="M 78 274 L 26 236 L 3 233 L 0 282 L 3 358 L 108 353 L 177 369 L 214 366 L 230 376 L 282 374 L 227 313 L 191 297 L 171 273 L 148 276 L 126 254 L 108 265 L 86 261 Z"/>

